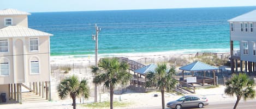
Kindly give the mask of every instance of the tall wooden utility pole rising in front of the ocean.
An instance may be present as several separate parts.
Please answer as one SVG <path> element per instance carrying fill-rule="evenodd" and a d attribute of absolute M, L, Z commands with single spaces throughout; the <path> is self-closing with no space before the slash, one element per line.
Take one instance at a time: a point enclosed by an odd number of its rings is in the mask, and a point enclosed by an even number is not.
<path fill-rule="evenodd" d="M 95 29 L 96 29 L 96 34 L 92 35 L 92 40 L 96 41 L 96 43 L 95 43 L 95 66 L 98 67 L 98 34 L 99 34 L 100 29 L 97 27 L 97 24 L 95 24 Z M 97 102 L 97 84 L 94 84 L 94 102 Z"/>

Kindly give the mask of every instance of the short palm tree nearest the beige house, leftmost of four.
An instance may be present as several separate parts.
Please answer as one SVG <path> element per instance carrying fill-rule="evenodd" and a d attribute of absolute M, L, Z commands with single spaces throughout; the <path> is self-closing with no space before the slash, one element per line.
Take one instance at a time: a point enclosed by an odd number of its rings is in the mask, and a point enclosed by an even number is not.
<path fill-rule="evenodd" d="M 57 86 L 57 92 L 58 97 L 61 99 L 65 99 L 69 94 L 73 99 L 73 109 L 76 108 L 76 97 L 80 97 L 82 95 L 85 98 L 88 98 L 90 94 L 87 81 L 85 79 L 79 81 L 78 77 L 75 75 L 63 79 Z"/>

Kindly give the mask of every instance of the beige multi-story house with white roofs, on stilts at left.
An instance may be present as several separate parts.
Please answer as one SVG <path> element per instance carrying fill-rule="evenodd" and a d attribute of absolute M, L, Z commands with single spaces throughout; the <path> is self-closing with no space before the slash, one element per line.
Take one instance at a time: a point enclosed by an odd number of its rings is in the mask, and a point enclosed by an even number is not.
<path fill-rule="evenodd" d="M 21 88 L 50 99 L 52 34 L 28 28 L 28 15 L 15 9 L 0 10 L 0 94 L 7 101 L 21 102 Z M 1 97 L 1 101 L 5 100 Z"/>

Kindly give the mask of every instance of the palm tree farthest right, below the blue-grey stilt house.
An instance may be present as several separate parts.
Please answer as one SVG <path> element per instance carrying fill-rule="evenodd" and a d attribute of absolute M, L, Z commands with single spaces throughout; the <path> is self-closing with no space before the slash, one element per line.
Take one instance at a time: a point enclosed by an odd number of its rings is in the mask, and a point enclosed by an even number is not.
<path fill-rule="evenodd" d="M 233 74 L 232 77 L 225 83 L 225 85 L 225 94 L 231 96 L 234 94 L 236 95 L 237 100 L 233 109 L 236 108 L 241 98 L 244 100 L 247 98 L 254 98 L 254 80 L 249 79 L 248 76 L 244 73 L 240 73 L 239 75 Z"/>

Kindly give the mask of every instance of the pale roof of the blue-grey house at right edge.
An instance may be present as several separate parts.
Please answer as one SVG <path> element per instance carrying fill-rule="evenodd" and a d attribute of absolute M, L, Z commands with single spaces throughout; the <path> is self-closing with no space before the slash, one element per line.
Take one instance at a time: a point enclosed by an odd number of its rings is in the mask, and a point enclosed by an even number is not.
<path fill-rule="evenodd" d="M 256 22 L 256 10 L 231 18 L 228 22 Z"/>

